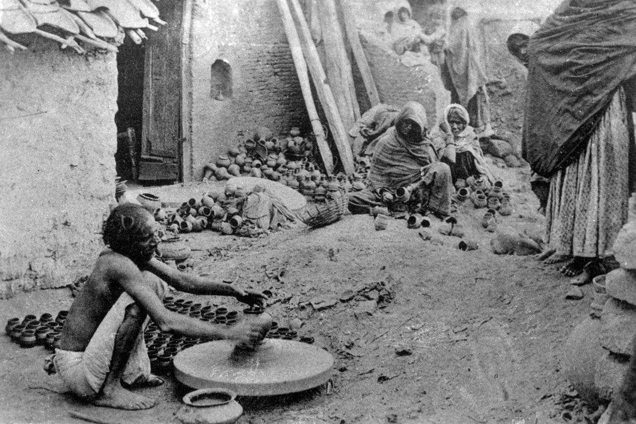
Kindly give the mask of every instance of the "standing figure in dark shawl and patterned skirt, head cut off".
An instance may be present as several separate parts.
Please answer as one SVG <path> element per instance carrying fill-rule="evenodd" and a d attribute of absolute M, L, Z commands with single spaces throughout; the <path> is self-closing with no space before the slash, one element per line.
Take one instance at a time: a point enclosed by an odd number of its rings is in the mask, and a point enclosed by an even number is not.
<path fill-rule="evenodd" d="M 607 272 L 627 220 L 636 163 L 635 32 L 633 1 L 565 0 L 530 38 L 522 153 L 550 178 L 551 250 L 539 258 L 571 258 L 560 271 L 578 275 L 574 285 Z"/>

